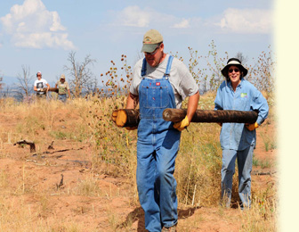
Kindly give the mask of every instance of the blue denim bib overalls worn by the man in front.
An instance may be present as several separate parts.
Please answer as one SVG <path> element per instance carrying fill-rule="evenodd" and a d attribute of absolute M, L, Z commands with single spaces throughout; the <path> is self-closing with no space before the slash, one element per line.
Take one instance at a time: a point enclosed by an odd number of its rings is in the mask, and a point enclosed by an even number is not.
<path fill-rule="evenodd" d="M 166 108 L 175 108 L 174 90 L 169 82 L 173 59 L 169 56 L 161 79 L 145 77 L 145 59 L 141 70 L 136 178 L 145 228 L 150 232 L 160 232 L 163 226 L 172 227 L 178 219 L 174 162 L 181 132 L 162 117 Z"/>

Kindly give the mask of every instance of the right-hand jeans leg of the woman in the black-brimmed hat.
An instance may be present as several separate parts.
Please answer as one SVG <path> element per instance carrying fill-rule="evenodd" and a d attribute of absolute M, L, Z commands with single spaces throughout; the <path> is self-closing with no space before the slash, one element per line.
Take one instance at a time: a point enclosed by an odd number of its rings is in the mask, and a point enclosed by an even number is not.
<path fill-rule="evenodd" d="M 241 207 L 251 206 L 251 170 L 253 164 L 254 145 L 238 152 L 238 195 Z"/>

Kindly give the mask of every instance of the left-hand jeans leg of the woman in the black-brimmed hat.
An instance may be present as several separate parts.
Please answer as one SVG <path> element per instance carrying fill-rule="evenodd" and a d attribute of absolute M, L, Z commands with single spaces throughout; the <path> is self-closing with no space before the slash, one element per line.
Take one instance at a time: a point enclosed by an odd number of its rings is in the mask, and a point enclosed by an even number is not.
<path fill-rule="evenodd" d="M 235 173 L 237 151 L 222 150 L 222 203 L 230 207 L 232 177 Z"/>

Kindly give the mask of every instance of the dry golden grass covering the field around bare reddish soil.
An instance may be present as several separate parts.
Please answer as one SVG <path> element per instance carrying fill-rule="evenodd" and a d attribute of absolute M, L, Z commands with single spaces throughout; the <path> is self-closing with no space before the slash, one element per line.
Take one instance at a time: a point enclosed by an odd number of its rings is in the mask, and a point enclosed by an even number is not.
<path fill-rule="evenodd" d="M 130 183 L 128 191 L 132 193 L 128 207 L 139 207 L 135 185 L 136 131 L 117 128 L 110 120 L 114 109 L 125 107 L 125 96 L 93 96 L 88 99 L 75 99 L 68 104 L 57 101 L 19 104 L 7 99 L 0 107 L 2 119 L 12 122 L 11 131 L 0 128 L 2 159 L 12 156 L 2 149 L 3 143 L 9 140 L 34 140 L 37 153 L 49 145 L 49 140 L 62 140 L 89 147 L 88 159 L 92 162 L 91 173 L 78 179 L 76 184 L 69 185 L 68 189 L 58 192 L 55 192 L 53 187 L 39 189 L 35 185 L 38 182 L 35 173 L 26 165 L 10 174 L 0 170 L 0 231 L 86 231 L 80 221 L 57 217 L 51 210 L 49 195 L 80 195 L 105 198 L 109 201 L 122 195 L 115 188 L 101 189 L 99 178 L 94 173 L 125 178 Z M 199 109 L 213 107 L 214 93 L 201 96 Z M 15 121 L 19 122 L 15 124 Z M 271 123 L 275 123 L 275 120 L 271 120 Z M 222 151 L 219 133 L 220 127 L 212 123 L 191 124 L 189 132 L 182 133 L 174 173 L 178 183 L 179 207 L 220 207 Z M 44 137 L 48 140 L 45 141 Z M 269 143 L 275 143 L 269 134 L 264 137 Z M 265 141 L 263 143 L 266 143 Z M 272 148 L 275 147 L 269 145 L 268 149 Z M 234 177 L 234 186 L 236 192 L 237 175 Z M 40 194 L 36 194 L 37 190 L 41 191 Z M 275 186 L 267 186 L 263 192 L 255 191 L 252 209 L 244 211 L 237 220 L 241 223 L 241 231 L 275 231 L 275 193 Z M 28 195 L 34 195 L 37 204 L 28 203 Z M 113 209 L 107 209 L 106 214 L 109 218 L 107 231 L 117 231 L 117 225 L 122 219 Z M 219 208 L 219 217 L 225 218 L 222 208 Z M 205 219 L 199 217 L 190 221 L 183 231 L 194 231 L 194 225 L 200 224 L 202 220 Z M 123 231 L 130 231 L 132 225 L 133 222 L 128 220 Z"/>

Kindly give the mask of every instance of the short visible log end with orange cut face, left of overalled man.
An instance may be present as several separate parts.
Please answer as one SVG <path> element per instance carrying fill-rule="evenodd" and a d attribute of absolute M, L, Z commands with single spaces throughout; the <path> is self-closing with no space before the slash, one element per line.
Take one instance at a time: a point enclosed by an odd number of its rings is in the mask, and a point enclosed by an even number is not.
<path fill-rule="evenodd" d="M 114 120 L 119 128 L 136 127 L 139 124 L 139 110 L 121 109 L 112 112 L 112 120 Z"/>

